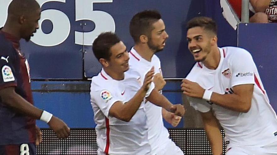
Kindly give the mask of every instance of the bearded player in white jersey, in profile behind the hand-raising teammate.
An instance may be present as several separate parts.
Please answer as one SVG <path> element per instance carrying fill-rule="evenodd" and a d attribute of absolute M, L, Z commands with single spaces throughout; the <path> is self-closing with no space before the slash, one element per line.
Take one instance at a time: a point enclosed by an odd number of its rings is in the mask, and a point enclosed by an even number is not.
<path fill-rule="evenodd" d="M 130 21 L 129 31 L 135 42 L 129 53 L 130 68 L 138 71 L 141 77 L 144 77 L 146 72 L 154 66 L 153 82 L 155 83 L 155 89 L 161 90 L 166 82 L 162 78 L 160 59 L 155 53 L 163 50 L 168 38 L 161 14 L 153 10 L 137 13 Z M 156 82 L 157 79 L 162 79 L 163 82 Z M 181 117 L 175 116 L 173 113 L 149 102 L 145 105 L 145 110 L 152 154 L 183 155 L 182 150 L 169 139 L 169 133 L 162 120 L 163 117 L 175 127 L 180 122 Z"/>

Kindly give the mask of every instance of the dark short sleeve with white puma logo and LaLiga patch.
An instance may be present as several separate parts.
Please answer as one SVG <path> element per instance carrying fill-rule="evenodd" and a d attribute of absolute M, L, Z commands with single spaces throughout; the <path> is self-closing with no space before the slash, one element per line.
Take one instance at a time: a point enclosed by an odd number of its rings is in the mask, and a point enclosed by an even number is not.
<path fill-rule="evenodd" d="M 10 86 L 17 86 L 15 72 L 15 55 L 13 47 L 0 47 L 0 90 Z"/>

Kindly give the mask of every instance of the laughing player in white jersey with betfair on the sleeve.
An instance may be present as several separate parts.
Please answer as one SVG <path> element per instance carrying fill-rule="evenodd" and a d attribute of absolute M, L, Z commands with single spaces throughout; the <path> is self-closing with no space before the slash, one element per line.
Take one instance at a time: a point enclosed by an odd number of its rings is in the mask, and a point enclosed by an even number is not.
<path fill-rule="evenodd" d="M 187 24 L 188 48 L 196 64 L 182 82 L 190 105 L 200 111 L 214 155 L 276 155 L 277 119 L 251 54 L 217 46 L 216 23 L 207 17 Z"/>

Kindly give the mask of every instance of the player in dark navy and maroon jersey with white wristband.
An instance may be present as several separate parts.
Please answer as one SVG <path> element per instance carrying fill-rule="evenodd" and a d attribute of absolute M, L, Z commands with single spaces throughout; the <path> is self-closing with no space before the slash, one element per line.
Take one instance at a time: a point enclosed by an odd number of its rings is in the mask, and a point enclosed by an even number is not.
<path fill-rule="evenodd" d="M 40 6 L 35 0 L 13 0 L 0 29 L 0 154 L 36 154 L 42 141 L 35 119 L 48 123 L 59 138 L 70 134 L 67 125 L 33 106 L 30 69 L 20 51 L 21 38 L 29 41 L 39 28 Z"/>

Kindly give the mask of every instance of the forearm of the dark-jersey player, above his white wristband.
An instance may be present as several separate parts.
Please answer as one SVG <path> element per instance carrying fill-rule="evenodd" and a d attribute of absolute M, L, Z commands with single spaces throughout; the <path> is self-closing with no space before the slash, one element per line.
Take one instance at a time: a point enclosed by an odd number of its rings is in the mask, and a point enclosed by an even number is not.
<path fill-rule="evenodd" d="M 18 113 L 21 113 L 25 116 L 30 116 L 34 119 L 40 119 L 42 110 L 33 106 L 31 103 L 26 101 L 20 95 L 14 93 L 14 94 L 9 94 L 5 97 L 1 96 L 1 98 L 4 104 L 9 108 L 11 108 L 12 110 Z"/>

